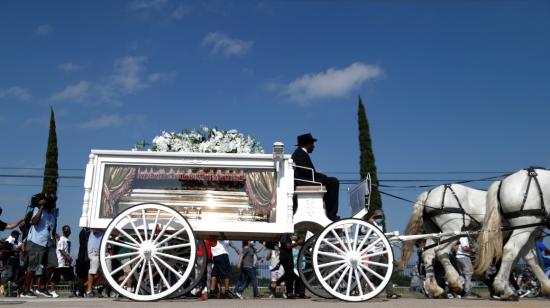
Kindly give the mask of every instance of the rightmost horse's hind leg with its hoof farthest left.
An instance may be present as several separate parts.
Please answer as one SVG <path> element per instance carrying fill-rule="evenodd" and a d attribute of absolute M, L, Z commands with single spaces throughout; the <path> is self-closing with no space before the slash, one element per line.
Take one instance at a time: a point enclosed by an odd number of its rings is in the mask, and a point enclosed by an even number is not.
<path fill-rule="evenodd" d="M 525 228 L 514 230 L 512 236 L 504 245 L 502 252 L 502 263 L 495 277 L 493 288 L 495 294 L 500 295 L 501 300 L 518 300 L 519 296 L 508 282 L 510 271 L 516 264 L 518 255 L 524 251 L 524 246 L 531 238 L 531 234 L 536 228 Z"/>

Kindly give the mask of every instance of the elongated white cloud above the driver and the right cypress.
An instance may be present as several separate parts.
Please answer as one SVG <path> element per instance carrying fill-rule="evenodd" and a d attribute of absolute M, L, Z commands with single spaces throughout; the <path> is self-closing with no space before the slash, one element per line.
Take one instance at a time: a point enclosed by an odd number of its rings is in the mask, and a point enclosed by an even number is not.
<path fill-rule="evenodd" d="M 364 82 L 380 77 L 384 71 L 376 66 L 355 62 L 348 67 L 329 68 L 325 72 L 305 74 L 286 85 L 276 85 L 290 100 L 302 104 L 315 99 L 336 98 L 349 95 Z"/>

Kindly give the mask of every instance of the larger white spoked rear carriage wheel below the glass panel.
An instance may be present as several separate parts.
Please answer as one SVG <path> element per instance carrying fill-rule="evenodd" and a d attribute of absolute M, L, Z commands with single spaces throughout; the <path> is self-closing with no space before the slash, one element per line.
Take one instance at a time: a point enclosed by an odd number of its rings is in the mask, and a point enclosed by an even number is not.
<path fill-rule="evenodd" d="M 109 247 L 126 251 L 112 249 L 108 255 Z M 179 212 L 162 204 L 138 204 L 124 210 L 107 227 L 101 240 L 101 269 L 119 294 L 137 301 L 158 300 L 185 283 L 195 264 L 196 249 L 191 226 Z M 121 261 L 116 268 L 114 259 Z M 124 269 L 129 273 L 117 282 L 114 275 Z M 124 286 L 131 277 L 135 280 L 133 290 L 127 290 Z"/>

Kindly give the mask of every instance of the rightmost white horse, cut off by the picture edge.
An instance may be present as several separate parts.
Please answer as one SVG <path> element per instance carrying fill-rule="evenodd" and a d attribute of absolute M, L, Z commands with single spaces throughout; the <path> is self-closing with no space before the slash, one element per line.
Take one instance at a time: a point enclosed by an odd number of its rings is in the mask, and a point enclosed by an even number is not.
<path fill-rule="evenodd" d="M 519 257 L 531 267 L 541 283 L 544 295 L 550 295 L 550 280 L 540 268 L 535 237 L 543 226 L 532 226 L 505 232 L 509 239 L 503 249 L 502 227 L 517 227 L 543 223 L 550 212 L 550 170 L 526 169 L 518 171 L 501 182 L 495 182 L 487 192 L 487 215 L 475 264 L 476 273 L 485 272 L 502 257 L 493 289 L 502 300 L 517 300 L 516 291 L 508 283 L 512 267 Z M 548 224 L 548 220 L 546 221 Z"/>

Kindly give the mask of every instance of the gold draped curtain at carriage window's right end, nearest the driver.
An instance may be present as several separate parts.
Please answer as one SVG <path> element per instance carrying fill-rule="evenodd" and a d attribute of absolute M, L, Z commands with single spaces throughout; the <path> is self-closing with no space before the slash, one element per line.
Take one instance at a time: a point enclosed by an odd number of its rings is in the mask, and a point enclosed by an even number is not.
<path fill-rule="evenodd" d="M 246 193 L 257 214 L 268 214 L 277 200 L 275 172 L 251 171 L 246 174 Z"/>

